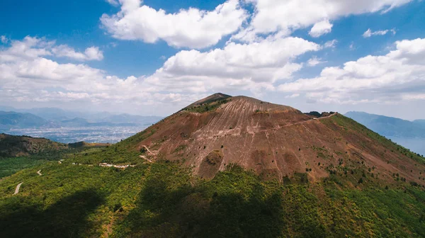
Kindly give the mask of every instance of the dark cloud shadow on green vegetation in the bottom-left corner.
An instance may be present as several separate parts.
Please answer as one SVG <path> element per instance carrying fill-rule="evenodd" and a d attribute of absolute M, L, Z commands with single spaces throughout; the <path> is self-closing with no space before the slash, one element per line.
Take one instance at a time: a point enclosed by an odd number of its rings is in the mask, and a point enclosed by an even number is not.
<path fill-rule="evenodd" d="M 103 201 L 96 191 L 78 191 L 42 210 L 30 198 L 12 197 L 0 208 L 0 237 L 84 237 L 93 228 L 87 216 Z"/>

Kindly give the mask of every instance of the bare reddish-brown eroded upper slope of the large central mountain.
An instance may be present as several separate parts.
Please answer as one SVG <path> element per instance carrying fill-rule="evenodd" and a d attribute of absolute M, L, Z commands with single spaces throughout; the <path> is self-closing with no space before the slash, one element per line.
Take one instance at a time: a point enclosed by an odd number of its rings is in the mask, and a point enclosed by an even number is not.
<path fill-rule="evenodd" d="M 289 106 L 222 95 L 193 103 L 147 128 L 151 135 L 135 142 L 133 149 L 151 159 L 193 166 L 205 178 L 239 164 L 266 179 L 282 181 L 307 173 L 314 181 L 339 166 L 348 179 L 366 173 L 394 181 L 398 174 L 424 184 L 419 179 L 425 171 L 422 157 L 343 115 L 314 118 Z"/>

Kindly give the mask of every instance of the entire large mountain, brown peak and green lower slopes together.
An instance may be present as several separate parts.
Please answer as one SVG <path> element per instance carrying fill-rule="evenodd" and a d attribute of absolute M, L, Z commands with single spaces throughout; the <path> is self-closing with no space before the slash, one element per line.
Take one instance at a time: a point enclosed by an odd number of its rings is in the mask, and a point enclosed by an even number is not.
<path fill-rule="evenodd" d="M 214 94 L 77 144 L 1 179 L 0 237 L 425 237 L 425 158 L 311 114 Z"/>

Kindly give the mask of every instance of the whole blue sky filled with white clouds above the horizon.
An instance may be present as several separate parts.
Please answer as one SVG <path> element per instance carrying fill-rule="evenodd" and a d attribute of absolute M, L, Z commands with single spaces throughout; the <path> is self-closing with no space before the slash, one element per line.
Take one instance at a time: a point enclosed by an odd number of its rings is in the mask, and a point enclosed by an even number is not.
<path fill-rule="evenodd" d="M 418 0 L 3 1 L 0 104 L 168 115 L 221 91 L 425 118 L 424 12 Z"/>

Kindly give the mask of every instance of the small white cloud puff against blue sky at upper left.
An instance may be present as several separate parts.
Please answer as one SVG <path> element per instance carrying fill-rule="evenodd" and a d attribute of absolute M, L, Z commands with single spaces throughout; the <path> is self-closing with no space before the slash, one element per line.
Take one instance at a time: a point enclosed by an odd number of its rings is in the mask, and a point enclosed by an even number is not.
<path fill-rule="evenodd" d="M 76 52 L 68 45 L 59 45 L 52 48 L 53 54 L 57 57 L 68 57 L 73 60 L 103 60 L 103 52 L 98 47 L 89 47 L 84 52 Z"/>

